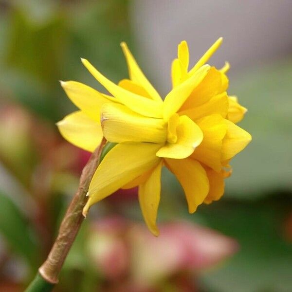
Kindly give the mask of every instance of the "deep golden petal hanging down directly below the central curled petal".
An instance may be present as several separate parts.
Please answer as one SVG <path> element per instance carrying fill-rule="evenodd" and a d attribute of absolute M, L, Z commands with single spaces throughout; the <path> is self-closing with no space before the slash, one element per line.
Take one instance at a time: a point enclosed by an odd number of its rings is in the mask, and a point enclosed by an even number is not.
<path fill-rule="evenodd" d="M 209 181 L 205 169 L 192 158 L 166 159 L 166 165 L 181 183 L 188 210 L 194 213 L 209 192 Z"/>

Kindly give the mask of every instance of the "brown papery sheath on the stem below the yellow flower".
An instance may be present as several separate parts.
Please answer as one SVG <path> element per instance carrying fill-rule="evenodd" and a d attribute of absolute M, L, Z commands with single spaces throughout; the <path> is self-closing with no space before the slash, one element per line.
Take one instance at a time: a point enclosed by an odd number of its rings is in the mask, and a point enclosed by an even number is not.
<path fill-rule="evenodd" d="M 58 283 L 58 275 L 84 219 L 82 210 L 87 201 L 86 194 L 91 178 L 99 164 L 100 155 L 105 143 L 106 140 L 103 138 L 100 146 L 92 153 L 91 158 L 83 168 L 78 190 L 61 223 L 51 252 L 38 269 L 39 274 L 49 283 Z"/>

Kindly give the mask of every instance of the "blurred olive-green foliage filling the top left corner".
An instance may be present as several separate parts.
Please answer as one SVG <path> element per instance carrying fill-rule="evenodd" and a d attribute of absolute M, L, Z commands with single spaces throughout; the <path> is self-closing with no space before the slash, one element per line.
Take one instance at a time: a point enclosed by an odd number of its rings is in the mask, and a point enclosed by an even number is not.
<path fill-rule="evenodd" d="M 7 2 L 0 12 L 3 92 L 56 122 L 73 109 L 57 80 L 94 84 L 80 57 L 98 63 L 117 81 L 127 70 L 119 46 L 123 40 L 130 42 L 126 4 L 126 0 Z"/>

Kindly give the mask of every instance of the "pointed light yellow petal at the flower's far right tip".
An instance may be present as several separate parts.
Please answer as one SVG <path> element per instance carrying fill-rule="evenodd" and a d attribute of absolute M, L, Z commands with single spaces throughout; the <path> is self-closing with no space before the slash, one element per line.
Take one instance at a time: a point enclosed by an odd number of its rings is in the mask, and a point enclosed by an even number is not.
<path fill-rule="evenodd" d="M 252 136 L 234 123 L 224 120 L 227 132 L 222 141 L 222 161 L 234 157 L 243 150 L 252 140 Z"/>

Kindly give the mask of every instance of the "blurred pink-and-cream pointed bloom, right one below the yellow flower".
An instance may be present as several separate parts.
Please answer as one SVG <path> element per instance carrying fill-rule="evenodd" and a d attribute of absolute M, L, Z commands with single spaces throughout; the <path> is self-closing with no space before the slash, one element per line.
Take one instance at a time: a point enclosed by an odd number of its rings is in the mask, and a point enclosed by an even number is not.
<path fill-rule="evenodd" d="M 132 274 L 138 281 L 154 282 L 179 271 L 201 271 L 233 255 L 237 242 L 189 222 L 162 224 L 161 235 L 146 229 L 131 230 Z"/>

